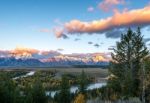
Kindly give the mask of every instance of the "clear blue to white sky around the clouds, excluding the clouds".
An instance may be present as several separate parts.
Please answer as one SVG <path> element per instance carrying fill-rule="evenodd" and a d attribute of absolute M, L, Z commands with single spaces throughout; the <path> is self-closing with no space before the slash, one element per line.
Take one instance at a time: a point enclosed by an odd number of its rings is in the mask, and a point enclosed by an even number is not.
<path fill-rule="evenodd" d="M 119 1 L 119 0 L 117 0 Z M 120 12 L 124 9 L 136 10 L 147 6 L 149 0 L 122 0 L 110 9 Z M 105 0 L 1 0 L 0 1 L 0 49 L 14 49 L 24 46 L 39 50 L 64 49 L 62 53 L 108 52 L 119 38 L 107 38 L 103 33 L 83 33 L 68 35 L 69 39 L 57 38 L 54 27 L 71 20 L 93 21 L 105 19 L 114 12 L 104 11 L 99 4 Z M 91 7 L 92 10 L 88 11 Z M 48 32 L 41 32 L 48 30 Z M 143 35 L 149 38 L 149 31 Z M 75 39 L 80 39 L 75 41 Z M 93 44 L 89 45 L 91 41 Z M 94 45 L 98 44 L 99 47 Z"/>

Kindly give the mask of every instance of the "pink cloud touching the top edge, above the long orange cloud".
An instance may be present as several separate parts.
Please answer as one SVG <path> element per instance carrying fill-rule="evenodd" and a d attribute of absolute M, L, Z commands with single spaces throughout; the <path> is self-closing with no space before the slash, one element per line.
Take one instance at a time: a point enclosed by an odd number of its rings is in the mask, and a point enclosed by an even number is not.
<path fill-rule="evenodd" d="M 115 5 L 125 4 L 124 0 L 103 0 L 99 3 L 98 7 L 103 11 L 109 11 L 114 8 Z"/>

